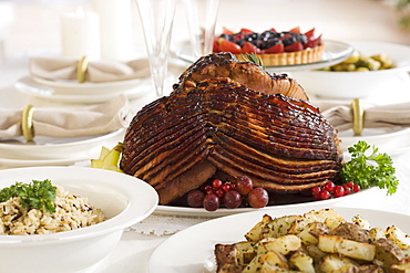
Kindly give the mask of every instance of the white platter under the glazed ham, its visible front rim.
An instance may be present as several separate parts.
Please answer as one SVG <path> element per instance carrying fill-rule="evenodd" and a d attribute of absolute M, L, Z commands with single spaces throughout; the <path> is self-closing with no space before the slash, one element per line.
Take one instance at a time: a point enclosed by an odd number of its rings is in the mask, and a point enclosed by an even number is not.
<path fill-rule="evenodd" d="M 339 198 L 331 198 L 327 200 L 318 200 L 318 201 L 309 201 L 303 203 L 289 203 L 289 204 L 280 204 L 280 206 L 269 206 L 262 209 L 254 209 L 254 208 L 237 208 L 237 209 L 225 209 L 218 208 L 216 211 L 207 211 L 204 208 L 191 208 L 191 207 L 173 207 L 173 206 L 157 206 L 154 214 L 163 214 L 163 216 L 180 216 L 180 217 L 202 217 L 202 218 L 219 218 L 225 216 L 232 216 L 237 213 L 244 212 L 252 212 L 252 211 L 268 211 L 273 209 L 297 209 L 297 208 L 308 208 L 308 207 L 330 207 L 340 201 L 346 201 L 349 199 L 361 198 L 363 195 L 371 195 L 375 190 L 380 190 L 379 188 L 369 188 L 365 190 L 360 190 L 359 192 L 351 193 L 349 196 L 339 197 Z"/>

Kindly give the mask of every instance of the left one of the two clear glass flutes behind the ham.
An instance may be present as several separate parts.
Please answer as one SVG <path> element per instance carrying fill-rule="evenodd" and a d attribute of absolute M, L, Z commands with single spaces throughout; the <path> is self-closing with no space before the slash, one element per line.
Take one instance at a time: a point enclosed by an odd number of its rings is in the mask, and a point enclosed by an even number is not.
<path fill-rule="evenodd" d="M 164 95 L 176 0 L 135 0 L 144 31 L 151 76 L 157 97 Z"/>

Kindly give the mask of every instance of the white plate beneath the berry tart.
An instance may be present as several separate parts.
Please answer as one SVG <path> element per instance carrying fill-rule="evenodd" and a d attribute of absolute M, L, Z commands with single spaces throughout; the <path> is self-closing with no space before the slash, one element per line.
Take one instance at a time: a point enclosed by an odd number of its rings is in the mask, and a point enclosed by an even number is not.
<path fill-rule="evenodd" d="M 353 52 L 353 48 L 345 42 L 324 40 L 325 52 L 322 60 L 314 63 L 294 64 L 294 65 L 266 65 L 266 71 L 269 72 L 290 72 L 300 70 L 317 70 L 329 65 L 340 63 L 348 59 Z M 192 56 L 189 50 L 189 42 L 184 42 L 175 51 L 177 57 L 188 63 L 193 63 L 196 60 Z"/>

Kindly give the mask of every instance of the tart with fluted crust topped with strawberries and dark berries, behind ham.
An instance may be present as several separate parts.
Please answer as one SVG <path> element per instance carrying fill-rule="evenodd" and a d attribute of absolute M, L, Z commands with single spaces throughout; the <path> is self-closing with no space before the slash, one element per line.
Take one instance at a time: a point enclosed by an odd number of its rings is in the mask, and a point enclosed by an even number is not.
<path fill-rule="evenodd" d="M 262 33 L 242 29 L 234 33 L 224 29 L 215 38 L 214 52 L 230 52 L 244 61 L 243 55 L 255 53 L 264 65 L 293 65 L 314 63 L 321 60 L 324 53 L 321 35 L 315 36 L 315 29 L 301 33 L 299 28 L 285 32 L 275 29 Z"/>

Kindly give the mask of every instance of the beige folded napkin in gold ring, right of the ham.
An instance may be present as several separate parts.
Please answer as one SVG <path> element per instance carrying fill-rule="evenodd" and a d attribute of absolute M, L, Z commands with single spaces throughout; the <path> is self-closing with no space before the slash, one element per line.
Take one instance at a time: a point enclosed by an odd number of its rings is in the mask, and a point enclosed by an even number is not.
<path fill-rule="evenodd" d="M 314 103 L 327 120 L 339 130 L 352 127 L 350 104 Z M 392 126 L 410 126 L 410 103 L 390 105 L 363 105 L 363 127 L 383 128 Z"/>

